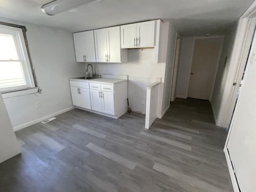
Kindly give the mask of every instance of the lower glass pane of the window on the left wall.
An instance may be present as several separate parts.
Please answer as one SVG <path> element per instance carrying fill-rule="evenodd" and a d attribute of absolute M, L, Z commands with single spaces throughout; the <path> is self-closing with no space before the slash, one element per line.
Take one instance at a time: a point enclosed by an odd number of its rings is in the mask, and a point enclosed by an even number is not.
<path fill-rule="evenodd" d="M 0 88 L 26 85 L 21 62 L 0 62 Z"/>

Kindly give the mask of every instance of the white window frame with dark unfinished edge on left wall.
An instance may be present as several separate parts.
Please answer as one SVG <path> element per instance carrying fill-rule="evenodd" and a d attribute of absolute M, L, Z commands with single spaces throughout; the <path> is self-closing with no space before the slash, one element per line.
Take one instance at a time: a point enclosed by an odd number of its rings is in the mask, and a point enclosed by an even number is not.
<path fill-rule="evenodd" d="M 26 94 L 26 92 L 28 94 L 30 94 L 31 92 L 33 93 L 38 92 L 34 66 L 32 65 L 30 52 L 28 49 L 28 41 L 26 38 L 26 27 L 0 22 L 0 33 L 1 32 L 4 34 L 9 34 L 13 36 L 14 44 L 18 54 L 18 60 L 0 60 L 0 62 L 14 62 L 14 61 L 21 62 L 24 79 L 26 81 L 26 85 L 0 88 L 0 91 L 3 94 L 3 98 L 18 96 L 19 92 L 20 92 L 20 95 Z"/>

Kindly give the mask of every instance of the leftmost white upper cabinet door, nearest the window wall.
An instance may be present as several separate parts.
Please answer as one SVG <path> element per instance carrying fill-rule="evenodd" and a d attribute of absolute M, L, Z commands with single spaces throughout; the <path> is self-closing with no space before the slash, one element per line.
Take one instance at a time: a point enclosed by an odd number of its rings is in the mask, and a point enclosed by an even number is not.
<path fill-rule="evenodd" d="M 76 51 L 76 62 L 84 62 L 84 55 L 86 54 L 84 32 L 74 33 L 73 37 Z"/>

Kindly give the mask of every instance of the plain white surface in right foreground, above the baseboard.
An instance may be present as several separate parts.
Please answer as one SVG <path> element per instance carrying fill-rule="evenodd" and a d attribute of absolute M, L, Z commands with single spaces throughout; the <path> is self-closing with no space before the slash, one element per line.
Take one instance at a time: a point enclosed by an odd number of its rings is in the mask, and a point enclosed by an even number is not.
<path fill-rule="evenodd" d="M 254 36 L 255 37 L 255 36 Z M 241 192 L 256 191 L 256 38 L 252 42 L 227 148 Z"/>

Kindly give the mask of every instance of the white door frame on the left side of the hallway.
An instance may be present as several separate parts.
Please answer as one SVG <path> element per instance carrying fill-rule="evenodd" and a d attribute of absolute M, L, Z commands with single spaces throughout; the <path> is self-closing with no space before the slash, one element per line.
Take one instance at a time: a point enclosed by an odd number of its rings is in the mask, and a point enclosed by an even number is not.
<path fill-rule="evenodd" d="M 178 43 L 178 39 L 180 39 L 180 42 L 179 42 L 179 50 L 177 50 L 177 43 Z M 170 88 L 170 98 L 169 98 L 169 104 L 170 104 L 170 102 L 171 102 L 171 98 L 172 98 L 172 86 L 173 86 L 173 84 L 172 84 L 172 82 L 173 82 L 173 74 L 174 74 L 174 64 L 175 64 L 175 61 L 176 61 L 176 59 L 178 59 L 178 66 L 179 66 L 179 59 L 180 59 L 180 51 L 181 51 L 181 36 L 180 36 L 180 34 L 178 34 L 178 33 L 176 33 L 176 40 L 175 40 L 175 47 L 174 47 L 174 57 L 173 57 L 173 61 L 172 61 L 172 65 L 170 65 L 170 68 L 171 68 L 171 66 L 172 66 L 172 74 L 171 74 L 171 88 Z M 179 52 L 179 54 L 178 54 L 178 58 L 176 58 L 176 52 Z M 179 67 L 178 67 L 178 69 L 179 69 Z M 178 70 L 176 71 L 176 79 L 178 78 Z M 177 80 L 176 80 L 176 85 L 177 85 Z M 175 86 L 176 87 L 176 86 Z M 174 99 L 176 98 L 176 93 L 175 93 L 175 95 L 173 96 L 174 97 Z"/>

